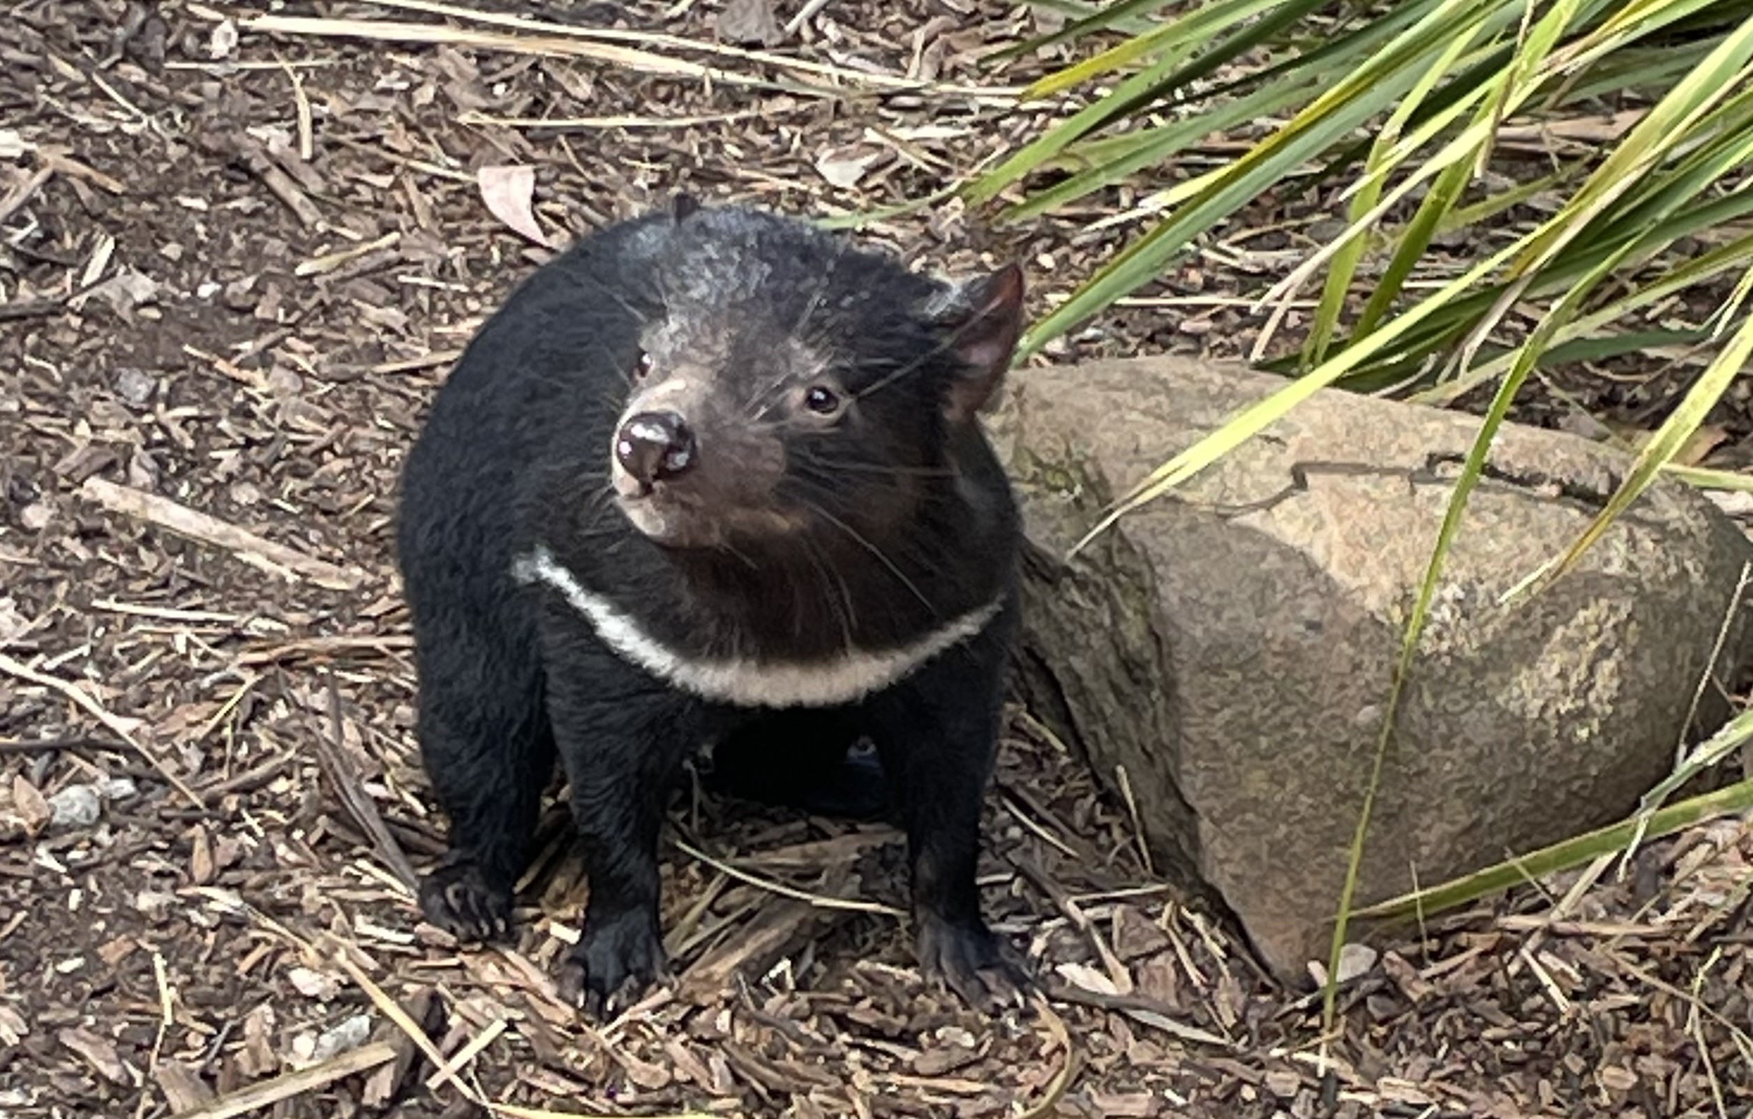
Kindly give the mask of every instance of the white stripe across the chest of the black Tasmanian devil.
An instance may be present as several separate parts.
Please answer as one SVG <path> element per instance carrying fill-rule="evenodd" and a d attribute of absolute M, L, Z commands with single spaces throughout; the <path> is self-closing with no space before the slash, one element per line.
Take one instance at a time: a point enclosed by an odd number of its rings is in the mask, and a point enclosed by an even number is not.
<path fill-rule="evenodd" d="M 848 650 L 831 660 L 812 662 L 694 660 L 659 643 L 603 595 L 586 590 L 547 548 L 538 546 L 519 557 L 512 564 L 512 576 L 522 583 L 547 583 L 561 592 L 591 622 L 596 636 L 622 658 L 703 699 L 742 707 L 831 707 L 880 692 L 938 653 L 978 634 L 1001 606 L 992 601 L 912 644 L 880 653 Z"/>

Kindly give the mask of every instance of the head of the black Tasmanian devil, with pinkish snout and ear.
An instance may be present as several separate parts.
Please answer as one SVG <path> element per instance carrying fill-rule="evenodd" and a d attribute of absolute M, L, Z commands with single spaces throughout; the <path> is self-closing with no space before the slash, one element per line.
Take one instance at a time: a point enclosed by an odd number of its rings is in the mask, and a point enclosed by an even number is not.
<path fill-rule="evenodd" d="M 992 398 L 1022 324 L 1015 266 L 950 284 L 812 226 L 682 200 L 649 228 L 661 310 L 626 355 L 610 457 L 666 548 L 782 550 L 905 532 Z"/>

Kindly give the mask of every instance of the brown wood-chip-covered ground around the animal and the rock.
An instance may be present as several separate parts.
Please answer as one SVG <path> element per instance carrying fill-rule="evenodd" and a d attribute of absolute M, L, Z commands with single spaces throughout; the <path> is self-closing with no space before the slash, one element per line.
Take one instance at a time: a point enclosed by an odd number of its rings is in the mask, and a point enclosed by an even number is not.
<path fill-rule="evenodd" d="M 598 26 L 708 47 L 708 0 L 477 0 L 561 28 L 515 42 L 247 25 L 510 33 L 412 0 L 9 7 L 0 1115 L 1753 1114 L 1744 821 L 1385 947 L 1324 1047 L 1318 998 L 1153 881 L 1124 806 L 1020 713 L 983 883 L 1048 988 L 1027 1009 L 985 1019 L 920 981 L 894 832 L 710 799 L 684 799 L 666 839 L 677 984 L 607 1026 L 554 995 L 582 895 L 559 809 L 517 944 L 447 942 L 407 884 L 442 821 L 391 520 L 449 362 L 552 252 L 484 201 L 496 184 L 515 214 L 517 175 L 482 168 L 533 172 L 554 245 L 678 189 L 919 200 L 1033 135 L 969 89 L 994 81 L 980 51 L 1041 25 L 994 0 L 831 0 L 785 32 L 780 5 L 775 49 L 833 74 L 619 44 L 719 70 L 703 79 L 557 51 Z M 1260 200 L 1047 357 L 1245 352 L 1266 320 L 1248 296 L 1301 250 L 1283 231 L 1336 212 L 1308 205 Z M 992 228 L 936 203 L 862 235 L 950 273 L 1024 259 L 1043 308 L 1131 229 L 1094 217 Z M 1648 392 L 1625 406 L 1646 415 Z M 1739 413 L 1723 431 L 1744 434 Z"/>

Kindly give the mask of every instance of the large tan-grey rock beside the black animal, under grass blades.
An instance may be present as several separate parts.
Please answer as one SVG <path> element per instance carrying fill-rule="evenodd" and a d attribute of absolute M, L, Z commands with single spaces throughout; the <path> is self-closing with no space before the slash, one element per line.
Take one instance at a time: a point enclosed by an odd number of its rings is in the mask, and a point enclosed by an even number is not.
<path fill-rule="evenodd" d="M 1325 961 L 1404 620 L 1476 431 L 1320 392 L 1061 557 L 1115 494 L 1283 382 L 1148 357 L 1013 375 L 990 429 L 1038 548 L 1018 683 L 1136 806 L 1159 870 L 1215 888 L 1285 981 Z M 1578 569 L 1562 553 L 1629 459 L 1506 426 L 1402 699 L 1357 905 L 1620 820 L 1674 760 L 1706 672 L 1744 664 L 1753 546 L 1676 483 Z M 1692 714 L 1716 725 L 1716 685 Z"/>

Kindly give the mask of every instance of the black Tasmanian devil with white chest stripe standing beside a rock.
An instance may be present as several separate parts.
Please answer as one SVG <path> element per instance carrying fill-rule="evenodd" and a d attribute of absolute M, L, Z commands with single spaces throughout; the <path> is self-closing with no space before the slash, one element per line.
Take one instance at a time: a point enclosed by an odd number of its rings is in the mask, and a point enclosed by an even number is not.
<path fill-rule="evenodd" d="M 980 912 L 1018 515 L 976 413 L 1022 273 L 948 282 L 798 219 L 673 205 L 531 273 L 436 394 L 398 553 L 421 753 L 451 820 L 428 919 L 503 937 L 564 767 L 589 902 L 563 989 L 666 972 L 657 839 L 696 748 L 743 793 L 906 832 L 915 949 L 1026 982 Z M 875 746 L 861 764 L 852 748 Z"/>

